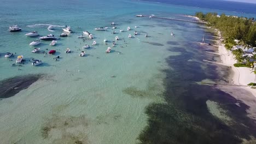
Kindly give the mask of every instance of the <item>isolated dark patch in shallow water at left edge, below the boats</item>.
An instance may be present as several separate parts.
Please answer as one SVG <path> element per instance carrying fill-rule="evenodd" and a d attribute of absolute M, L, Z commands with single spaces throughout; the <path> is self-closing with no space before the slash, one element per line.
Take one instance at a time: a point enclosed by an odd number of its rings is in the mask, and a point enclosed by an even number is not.
<path fill-rule="evenodd" d="M 13 97 L 36 82 L 41 75 L 16 76 L 0 82 L 0 99 Z"/>

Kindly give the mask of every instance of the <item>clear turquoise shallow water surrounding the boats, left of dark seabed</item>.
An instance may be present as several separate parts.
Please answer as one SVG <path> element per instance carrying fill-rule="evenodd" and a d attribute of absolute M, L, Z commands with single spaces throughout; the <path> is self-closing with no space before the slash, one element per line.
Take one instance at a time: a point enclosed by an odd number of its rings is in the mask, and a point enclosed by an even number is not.
<path fill-rule="evenodd" d="M 0 9 L 5 9 L 0 12 L 0 21 L 4 23 L 0 26 L 0 53 L 17 53 L 11 58 L 13 61 L 0 57 L 0 80 L 26 74 L 45 75 L 28 89 L 0 101 L 2 143 L 138 142 L 139 133 L 147 125 L 145 107 L 152 102 L 165 103 L 161 97 L 166 77 L 161 70 L 168 67 L 165 58 L 182 55 L 170 50 L 183 46 L 188 38 L 200 41 L 204 33 L 195 23 L 135 17 L 156 14 L 189 19 L 183 14 L 197 10 L 173 5 L 100 0 L 3 1 Z M 113 21 L 117 23 L 117 34 L 112 34 Z M 21 26 L 22 32 L 8 32 L 14 24 Z M 47 31 L 49 24 L 57 26 L 55 32 Z M 50 41 L 37 46 L 42 51 L 56 50 L 54 56 L 31 53 L 33 47 L 29 44 L 39 37 L 27 38 L 24 34 L 38 31 L 40 36 L 59 35 L 65 25 L 75 33 L 57 40 L 56 46 L 49 46 Z M 94 31 L 101 26 L 109 27 L 108 31 Z M 132 28 L 130 32 L 126 31 L 127 26 Z M 120 29 L 125 32 L 120 33 Z M 91 32 L 97 45 L 85 50 L 85 57 L 79 57 L 82 46 L 93 41 L 77 39 L 83 31 Z M 139 33 L 136 38 L 127 38 L 134 31 Z M 176 37 L 171 37 L 171 32 Z M 144 37 L 146 33 L 148 38 Z M 106 54 L 104 51 L 116 35 L 120 38 L 117 46 Z M 109 40 L 107 45 L 104 38 Z M 168 41 L 177 45 L 168 45 Z M 67 47 L 72 53 L 65 53 Z M 26 59 L 22 70 L 10 66 L 18 55 Z M 53 60 L 56 56 L 60 56 L 59 61 Z M 32 67 L 28 62 L 31 57 L 44 64 Z"/>

